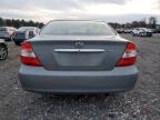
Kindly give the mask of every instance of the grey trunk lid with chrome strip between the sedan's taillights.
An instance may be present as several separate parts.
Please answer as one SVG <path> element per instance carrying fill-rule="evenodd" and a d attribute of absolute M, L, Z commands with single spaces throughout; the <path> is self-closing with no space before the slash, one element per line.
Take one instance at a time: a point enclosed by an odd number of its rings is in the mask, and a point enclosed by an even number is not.
<path fill-rule="evenodd" d="M 47 70 L 112 70 L 127 41 L 116 37 L 49 37 L 31 40 Z"/>

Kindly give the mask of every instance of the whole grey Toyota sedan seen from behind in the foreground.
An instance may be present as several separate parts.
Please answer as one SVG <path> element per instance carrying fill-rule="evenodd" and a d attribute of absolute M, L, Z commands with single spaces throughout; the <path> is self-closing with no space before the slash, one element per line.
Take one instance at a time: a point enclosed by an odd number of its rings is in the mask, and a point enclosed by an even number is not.
<path fill-rule="evenodd" d="M 19 78 L 24 90 L 118 92 L 138 78 L 137 53 L 106 22 L 54 20 L 22 43 Z"/>

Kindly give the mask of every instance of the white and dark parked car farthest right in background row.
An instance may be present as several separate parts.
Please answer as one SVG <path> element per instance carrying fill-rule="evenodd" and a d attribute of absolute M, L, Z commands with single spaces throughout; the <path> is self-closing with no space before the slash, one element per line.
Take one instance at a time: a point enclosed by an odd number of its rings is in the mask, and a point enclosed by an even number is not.
<path fill-rule="evenodd" d="M 136 28 L 132 30 L 132 36 L 139 36 L 139 37 L 152 37 L 152 30 L 147 28 Z"/>

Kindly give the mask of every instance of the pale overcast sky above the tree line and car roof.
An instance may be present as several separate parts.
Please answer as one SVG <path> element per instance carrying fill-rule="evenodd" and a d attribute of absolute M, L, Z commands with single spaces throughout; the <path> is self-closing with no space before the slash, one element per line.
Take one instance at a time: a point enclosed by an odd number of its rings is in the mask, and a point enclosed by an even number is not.
<path fill-rule="evenodd" d="M 0 0 L 0 17 L 42 22 L 67 18 L 127 22 L 150 16 L 160 23 L 160 0 Z"/>

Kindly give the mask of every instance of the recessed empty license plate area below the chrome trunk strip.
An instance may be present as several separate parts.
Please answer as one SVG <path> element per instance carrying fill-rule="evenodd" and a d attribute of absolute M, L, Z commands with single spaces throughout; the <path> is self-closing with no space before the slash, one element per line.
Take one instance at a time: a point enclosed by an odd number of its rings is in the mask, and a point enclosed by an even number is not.
<path fill-rule="evenodd" d="M 54 52 L 53 56 L 60 67 L 96 67 L 104 59 L 103 52 Z"/>

